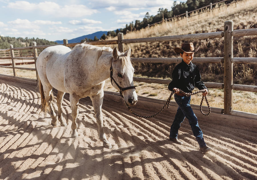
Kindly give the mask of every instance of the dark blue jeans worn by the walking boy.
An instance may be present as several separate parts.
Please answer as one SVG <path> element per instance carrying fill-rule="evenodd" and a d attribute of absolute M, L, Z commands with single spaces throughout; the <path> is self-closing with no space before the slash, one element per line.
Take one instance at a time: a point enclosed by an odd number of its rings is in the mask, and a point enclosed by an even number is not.
<path fill-rule="evenodd" d="M 193 131 L 194 136 L 196 137 L 196 141 L 198 142 L 199 146 L 206 146 L 202 130 L 198 125 L 198 119 L 190 106 L 191 96 L 186 97 L 174 94 L 174 99 L 178 104 L 178 110 L 175 115 L 174 121 L 170 127 L 170 138 L 178 138 L 178 129 L 180 128 L 180 124 L 184 121 L 186 117 L 189 121 L 191 129 Z"/>

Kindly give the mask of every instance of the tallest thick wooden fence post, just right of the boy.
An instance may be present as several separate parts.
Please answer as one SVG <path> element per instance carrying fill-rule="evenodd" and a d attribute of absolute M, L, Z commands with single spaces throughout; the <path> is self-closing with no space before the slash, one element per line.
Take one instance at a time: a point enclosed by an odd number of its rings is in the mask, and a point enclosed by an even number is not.
<path fill-rule="evenodd" d="M 233 84 L 233 21 L 224 23 L 224 114 L 230 114 L 232 110 Z"/>

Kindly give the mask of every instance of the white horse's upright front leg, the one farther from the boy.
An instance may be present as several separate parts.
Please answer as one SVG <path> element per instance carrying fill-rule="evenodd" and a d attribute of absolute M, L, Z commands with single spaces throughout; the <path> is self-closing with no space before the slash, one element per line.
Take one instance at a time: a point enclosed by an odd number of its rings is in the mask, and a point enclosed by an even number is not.
<path fill-rule="evenodd" d="M 75 94 L 70 94 L 70 103 L 71 103 L 71 117 L 72 117 L 72 124 L 71 124 L 71 129 L 72 129 L 72 138 L 78 137 L 78 132 L 77 132 L 77 122 L 76 119 L 79 114 L 79 97 Z"/>

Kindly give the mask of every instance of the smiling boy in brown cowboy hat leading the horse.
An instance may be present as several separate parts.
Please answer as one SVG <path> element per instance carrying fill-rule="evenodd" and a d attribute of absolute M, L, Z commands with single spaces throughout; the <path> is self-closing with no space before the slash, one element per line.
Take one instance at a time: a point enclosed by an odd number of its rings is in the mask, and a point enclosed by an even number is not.
<path fill-rule="evenodd" d="M 202 93 L 204 96 L 208 94 L 208 89 L 205 87 L 201 80 L 201 75 L 197 67 L 191 62 L 194 53 L 198 51 L 194 49 L 193 43 L 182 43 L 182 47 L 174 48 L 174 51 L 183 58 L 182 62 L 176 65 L 174 71 L 172 72 L 172 81 L 168 85 L 170 91 L 175 91 L 174 99 L 178 104 L 178 110 L 175 115 L 174 121 L 170 127 L 170 141 L 176 144 L 183 144 L 182 141 L 178 140 L 178 129 L 180 124 L 184 121 L 185 117 L 188 119 L 189 124 L 192 128 L 193 134 L 200 146 L 200 150 L 206 153 L 211 150 L 211 148 L 206 146 L 204 142 L 202 131 L 198 125 L 198 119 L 194 114 L 191 106 L 190 99 L 191 96 L 186 97 L 183 93 L 180 93 L 178 89 L 183 90 L 186 93 L 192 93 L 194 87 L 199 90 L 204 89 L 205 92 Z"/>

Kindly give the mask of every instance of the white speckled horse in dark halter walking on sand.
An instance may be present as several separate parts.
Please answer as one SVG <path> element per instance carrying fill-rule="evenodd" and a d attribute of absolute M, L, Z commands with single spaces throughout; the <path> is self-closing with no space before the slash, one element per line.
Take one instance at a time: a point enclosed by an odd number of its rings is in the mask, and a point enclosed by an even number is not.
<path fill-rule="evenodd" d="M 105 80 L 111 76 L 113 86 L 123 96 L 125 103 L 135 105 L 137 95 L 133 86 L 134 68 L 130 61 L 129 48 L 125 53 L 107 47 L 97 47 L 82 43 L 72 50 L 63 45 L 44 49 L 37 58 L 38 87 L 41 95 L 41 111 L 50 111 L 51 124 L 57 125 L 55 110 L 52 105 L 52 88 L 58 90 L 57 106 L 58 120 L 66 126 L 63 120 L 61 104 L 65 93 L 70 94 L 72 136 L 78 137 L 76 119 L 78 116 L 79 99 L 89 96 L 95 110 L 98 133 L 103 146 L 112 148 L 103 129 L 103 87 Z M 111 68 L 110 68 L 111 67 Z M 124 87 L 124 88 L 121 88 Z"/>

